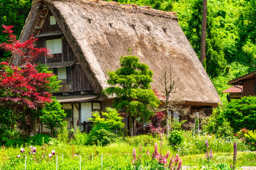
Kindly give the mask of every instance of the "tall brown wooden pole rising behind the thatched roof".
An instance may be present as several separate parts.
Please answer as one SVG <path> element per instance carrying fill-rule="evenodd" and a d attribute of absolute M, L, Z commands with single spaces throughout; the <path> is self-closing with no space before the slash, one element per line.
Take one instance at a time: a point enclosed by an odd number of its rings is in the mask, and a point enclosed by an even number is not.
<path fill-rule="evenodd" d="M 206 16 L 207 16 L 207 0 L 203 0 L 202 7 L 202 27 L 201 27 L 201 54 L 200 62 L 204 64 L 206 51 Z"/>

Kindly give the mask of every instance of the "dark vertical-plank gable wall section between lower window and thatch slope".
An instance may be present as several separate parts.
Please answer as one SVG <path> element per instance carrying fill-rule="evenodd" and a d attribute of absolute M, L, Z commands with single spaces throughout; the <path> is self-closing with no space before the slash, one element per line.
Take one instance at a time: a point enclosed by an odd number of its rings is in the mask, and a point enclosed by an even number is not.
<path fill-rule="evenodd" d="M 81 65 L 75 65 L 72 67 L 72 84 L 73 90 L 93 90 L 91 83 L 87 79 Z"/>

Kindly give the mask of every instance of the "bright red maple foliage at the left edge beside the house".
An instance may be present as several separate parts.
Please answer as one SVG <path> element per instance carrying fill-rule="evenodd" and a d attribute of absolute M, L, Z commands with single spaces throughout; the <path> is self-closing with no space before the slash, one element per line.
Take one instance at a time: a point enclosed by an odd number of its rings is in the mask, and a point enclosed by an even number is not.
<path fill-rule="evenodd" d="M 3 32 L 8 34 L 8 43 L 0 44 L 6 52 L 20 56 L 23 64 L 21 67 L 11 63 L 0 64 L 0 103 L 6 107 L 24 110 L 25 107 L 35 109 L 38 105 L 51 102 L 49 78 L 52 73 L 39 73 L 34 60 L 42 55 L 48 55 L 46 48 L 35 48 L 33 37 L 20 43 L 12 35 L 13 26 L 5 26 Z"/>

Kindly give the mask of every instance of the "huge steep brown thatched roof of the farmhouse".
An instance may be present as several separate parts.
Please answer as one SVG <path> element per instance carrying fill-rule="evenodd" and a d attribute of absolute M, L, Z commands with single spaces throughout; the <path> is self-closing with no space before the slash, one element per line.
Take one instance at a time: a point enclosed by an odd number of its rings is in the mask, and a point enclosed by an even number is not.
<path fill-rule="evenodd" d="M 119 57 L 129 55 L 131 48 L 132 55 L 154 71 L 153 88 L 161 91 L 157 78 L 171 66 L 182 87 L 174 95 L 182 96 L 185 104 L 217 106 L 221 102 L 173 12 L 116 2 L 34 0 L 21 41 L 37 35 L 34 27 L 41 23 L 43 10 L 36 6 L 45 4 L 99 95 L 107 87 L 107 71 L 116 70 Z"/>

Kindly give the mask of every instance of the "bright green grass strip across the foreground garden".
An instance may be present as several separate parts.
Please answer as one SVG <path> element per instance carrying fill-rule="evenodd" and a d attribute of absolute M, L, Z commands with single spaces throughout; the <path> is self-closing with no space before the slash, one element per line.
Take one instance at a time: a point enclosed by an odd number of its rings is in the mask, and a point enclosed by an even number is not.
<path fill-rule="evenodd" d="M 131 146 L 127 142 L 118 142 L 118 143 L 111 143 L 108 146 L 104 147 L 96 147 L 95 146 L 75 146 L 75 154 L 81 155 L 82 158 L 87 161 L 91 160 L 92 154 L 95 157 L 95 153 L 97 156 L 103 154 L 103 157 L 107 158 L 110 156 L 115 156 L 119 159 L 122 159 L 125 164 L 128 164 L 132 159 L 132 149 L 135 148 L 137 150 L 137 155 L 139 155 L 139 146 Z M 52 151 L 56 151 L 56 155 L 58 155 L 59 159 L 61 158 L 62 154 L 66 159 L 71 159 L 72 156 L 72 149 L 70 145 L 59 145 L 59 146 L 49 146 L 47 147 L 46 156 Z M 142 147 L 142 160 L 149 161 L 151 156 L 147 156 L 146 152 L 149 150 L 150 155 L 154 151 L 154 146 L 145 146 Z M 25 148 L 25 154 L 28 155 L 29 149 L 28 147 Z M 158 144 L 158 151 L 160 152 L 160 147 Z M 166 154 L 167 151 L 170 151 L 170 154 L 175 155 L 176 152 L 170 149 L 170 146 L 164 142 L 162 146 L 162 154 Z M 36 152 L 36 159 L 40 159 L 41 153 L 41 146 L 37 146 Z M 6 148 L 4 152 L 5 159 L 17 159 L 15 158 L 20 153 L 20 148 Z M 3 150 L 0 152 L 0 163 L 3 162 Z M 94 158 L 95 159 L 95 158 Z M 188 156 L 181 156 L 182 165 L 202 165 L 206 161 L 205 154 L 199 155 L 188 155 Z M 256 154 L 250 152 L 238 152 L 237 154 L 237 165 L 238 166 L 256 166 Z M 115 164 L 115 160 L 111 160 L 113 164 Z M 213 153 L 213 163 L 226 163 L 226 164 L 233 164 L 233 152 L 217 152 Z M 1 166 L 0 166 L 1 167 Z M 0 168 L 1 169 L 1 168 Z"/>

